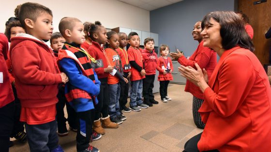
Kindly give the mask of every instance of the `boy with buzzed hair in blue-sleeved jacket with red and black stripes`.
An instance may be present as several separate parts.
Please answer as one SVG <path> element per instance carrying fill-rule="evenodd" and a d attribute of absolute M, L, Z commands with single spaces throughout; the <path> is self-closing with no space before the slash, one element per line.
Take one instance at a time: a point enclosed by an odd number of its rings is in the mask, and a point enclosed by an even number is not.
<path fill-rule="evenodd" d="M 91 68 L 96 60 L 84 48 L 80 47 L 85 40 L 83 23 L 73 17 L 60 20 L 59 30 L 66 42 L 59 51 L 58 63 L 67 73 L 69 82 L 65 85 L 65 96 L 77 113 L 78 131 L 76 135 L 77 152 L 99 152 L 90 146 L 92 124 L 94 121 L 94 104 L 98 103 L 100 81 Z M 94 102 L 94 103 L 93 103 Z M 95 138 L 101 138 L 96 134 Z"/>

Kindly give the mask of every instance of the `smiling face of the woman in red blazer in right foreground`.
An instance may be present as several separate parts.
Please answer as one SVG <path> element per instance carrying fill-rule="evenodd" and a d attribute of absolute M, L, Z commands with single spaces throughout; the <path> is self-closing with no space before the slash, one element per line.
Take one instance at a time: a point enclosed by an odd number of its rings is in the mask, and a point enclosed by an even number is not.
<path fill-rule="evenodd" d="M 203 46 L 209 47 L 214 51 L 222 48 L 220 28 L 220 24 L 211 18 L 210 23 L 207 23 L 204 30 L 201 32 Z"/>

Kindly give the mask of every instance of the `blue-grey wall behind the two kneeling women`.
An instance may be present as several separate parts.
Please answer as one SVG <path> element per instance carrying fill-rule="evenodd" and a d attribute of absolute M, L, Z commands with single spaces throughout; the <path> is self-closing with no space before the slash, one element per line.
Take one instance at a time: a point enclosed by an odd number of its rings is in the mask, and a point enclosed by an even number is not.
<path fill-rule="evenodd" d="M 195 23 L 212 11 L 233 11 L 234 0 L 183 0 L 150 12 L 151 32 L 159 34 L 159 45 L 175 46 L 190 56 L 198 42 L 192 37 Z"/>

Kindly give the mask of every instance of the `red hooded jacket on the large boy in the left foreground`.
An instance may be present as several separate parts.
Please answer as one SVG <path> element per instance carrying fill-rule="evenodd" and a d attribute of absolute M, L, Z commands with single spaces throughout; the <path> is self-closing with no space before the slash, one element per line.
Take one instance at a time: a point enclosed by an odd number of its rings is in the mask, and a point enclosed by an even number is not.
<path fill-rule="evenodd" d="M 22 107 L 38 108 L 58 102 L 62 82 L 52 50 L 29 34 L 12 38 L 12 70 Z"/>

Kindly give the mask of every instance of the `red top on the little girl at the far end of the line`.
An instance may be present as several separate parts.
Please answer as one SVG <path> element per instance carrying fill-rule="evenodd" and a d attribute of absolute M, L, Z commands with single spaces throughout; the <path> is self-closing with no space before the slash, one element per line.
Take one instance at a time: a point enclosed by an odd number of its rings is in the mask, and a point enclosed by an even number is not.
<path fill-rule="evenodd" d="M 158 81 L 170 81 L 173 80 L 171 73 L 164 74 L 164 70 L 171 69 L 173 71 L 173 64 L 170 57 L 167 57 L 167 59 L 164 59 L 163 56 L 158 57 L 157 59 L 157 67 L 156 69 L 159 71 L 158 75 Z"/>

